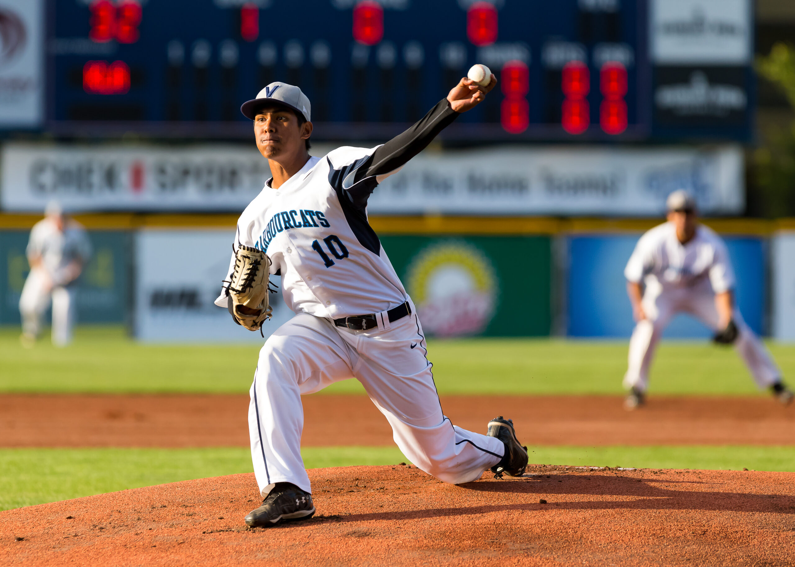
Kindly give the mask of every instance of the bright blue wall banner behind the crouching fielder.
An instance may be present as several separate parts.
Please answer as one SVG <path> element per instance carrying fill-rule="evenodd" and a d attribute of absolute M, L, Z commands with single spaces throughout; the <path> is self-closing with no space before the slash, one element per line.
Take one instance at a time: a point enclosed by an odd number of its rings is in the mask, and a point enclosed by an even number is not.
<path fill-rule="evenodd" d="M 629 337 L 634 328 L 624 268 L 637 235 L 571 237 L 568 246 L 568 332 L 572 337 Z M 759 237 L 724 237 L 737 277 L 737 305 L 751 329 L 762 334 L 765 255 Z M 665 338 L 712 336 L 701 322 L 678 314 Z"/>

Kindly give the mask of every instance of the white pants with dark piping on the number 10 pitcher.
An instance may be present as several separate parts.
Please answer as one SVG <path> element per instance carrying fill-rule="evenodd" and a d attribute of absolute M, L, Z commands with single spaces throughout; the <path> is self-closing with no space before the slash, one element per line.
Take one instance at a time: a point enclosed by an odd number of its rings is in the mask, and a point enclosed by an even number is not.
<path fill-rule="evenodd" d="M 262 496 L 277 482 L 311 492 L 301 459 L 301 395 L 349 378 L 363 384 L 394 442 L 425 473 L 460 484 L 501 461 L 501 441 L 453 426 L 442 414 L 426 354 L 416 314 L 382 330 L 349 330 L 305 313 L 279 327 L 260 351 L 250 390 L 251 458 Z"/>

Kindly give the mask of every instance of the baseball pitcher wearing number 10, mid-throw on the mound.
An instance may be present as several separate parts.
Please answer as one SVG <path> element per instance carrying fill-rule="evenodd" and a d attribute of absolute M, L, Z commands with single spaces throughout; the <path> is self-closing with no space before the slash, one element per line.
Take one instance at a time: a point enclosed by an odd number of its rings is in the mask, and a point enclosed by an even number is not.
<path fill-rule="evenodd" d="M 387 176 L 429 145 L 494 87 L 461 79 L 417 124 L 375 148 L 308 154 L 311 108 L 298 87 L 271 83 L 242 105 L 273 178 L 238 220 L 234 254 L 216 305 L 259 330 L 270 315 L 268 274 L 281 276 L 296 316 L 259 355 L 250 390 L 251 456 L 262 506 L 252 527 L 315 512 L 301 460 L 301 395 L 356 378 L 390 422 L 394 441 L 417 467 L 448 483 L 486 469 L 521 476 L 527 452 L 510 420 L 487 435 L 444 416 L 411 298 L 367 222 L 367 199 Z"/>

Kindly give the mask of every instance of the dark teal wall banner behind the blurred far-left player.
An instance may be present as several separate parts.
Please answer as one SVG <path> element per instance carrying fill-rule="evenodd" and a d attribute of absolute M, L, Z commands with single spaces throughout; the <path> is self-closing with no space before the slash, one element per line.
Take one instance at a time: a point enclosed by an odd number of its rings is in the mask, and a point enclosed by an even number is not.
<path fill-rule="evenodd" d="M 19 296 L 29 265 L 25 256 L 29 231 L 0 231 L 0 324 L 19 325 Z M 130 233 L 88 232 L 94 250 L 77 281 L 76 322 L 128 322 L 130 303 Z"/>

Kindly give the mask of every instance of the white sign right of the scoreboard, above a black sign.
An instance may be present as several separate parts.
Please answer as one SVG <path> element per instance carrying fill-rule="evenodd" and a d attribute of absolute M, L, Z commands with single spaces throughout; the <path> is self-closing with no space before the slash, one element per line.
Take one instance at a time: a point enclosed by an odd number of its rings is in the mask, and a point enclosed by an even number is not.
<path fill-rule="evenodd" d="M 655 64 L 745 65 L 751 56 L 750 0 L 652 0 Z"/>

